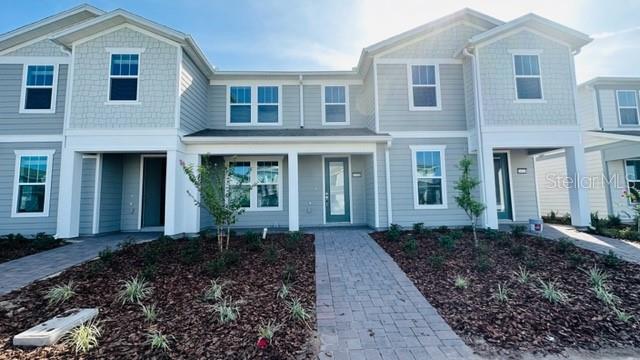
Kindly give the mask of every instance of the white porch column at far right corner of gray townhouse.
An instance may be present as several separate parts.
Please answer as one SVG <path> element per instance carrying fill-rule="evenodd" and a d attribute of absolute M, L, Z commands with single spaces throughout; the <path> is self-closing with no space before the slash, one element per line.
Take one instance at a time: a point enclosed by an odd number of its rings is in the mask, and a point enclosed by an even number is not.
<path fill-rule="evenodd" d="M 591 215 L 589 212 L 587 189 L 582 186 L 582 179 L 587 176 L 583 145 L 578 144 L 566 147 L 565 156 L 567 163 L 567 176 L 574 179 L 574 185 L 569 187 L 571 225 L 575 227 L 588 227 L 591 224 Z"/>

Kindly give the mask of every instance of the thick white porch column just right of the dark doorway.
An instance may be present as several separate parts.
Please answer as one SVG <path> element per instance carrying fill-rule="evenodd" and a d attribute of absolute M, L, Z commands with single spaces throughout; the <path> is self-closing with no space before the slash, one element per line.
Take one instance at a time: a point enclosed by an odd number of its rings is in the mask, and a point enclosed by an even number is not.
<path fill-rule="evenodd" d="M 197 154 L 185 154 L 180 151 L 167 151 L 167 179 L 165 193 L 165 235 L 193 234 L 200 231 L 200 209 L 195 205 L 189 191 L 198 195 L 189 181 L 180 161 L 198 166 Z"/>

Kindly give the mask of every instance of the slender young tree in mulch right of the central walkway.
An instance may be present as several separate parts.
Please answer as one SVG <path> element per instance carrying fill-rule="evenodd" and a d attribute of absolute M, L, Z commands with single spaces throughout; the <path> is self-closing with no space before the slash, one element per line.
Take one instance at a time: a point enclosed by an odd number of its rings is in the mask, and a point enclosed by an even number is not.
<path fill-rule="evenodd" d="M 455 197 L 456 203 L 460 206 L 469 217 L 471 221 L 471 228 L 473 229 L 473 242 L 478 247 L 478 235 L 476 233 L 476 227 L 478 225 L 478 218 L 482 215 L 485 209 L 485 205 L 473 198 L 473 189 L 475 189 L 480 181 L 471 176 L 471 159 L 467 156 L 460 160 L 458 168 L 462 171 L 460 179 L 456 182 L 455 189 L 458 190 L 458 195 Z"/>

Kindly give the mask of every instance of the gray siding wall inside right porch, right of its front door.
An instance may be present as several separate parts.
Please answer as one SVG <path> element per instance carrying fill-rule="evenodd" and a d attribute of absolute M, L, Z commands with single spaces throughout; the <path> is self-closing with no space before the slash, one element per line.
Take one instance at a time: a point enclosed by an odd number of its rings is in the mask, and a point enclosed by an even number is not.
<path fill-rule="evenodd" d="M 511 174 L 511 201 L 514 221 L 528 221 L 538 218 L 538 202 L 536 200 L 536 178 L 533 157 L 526 150 L 511 150 L 509 153 Z M 519 174 L 517 169 L 527 169 L 526 174 Z"/>

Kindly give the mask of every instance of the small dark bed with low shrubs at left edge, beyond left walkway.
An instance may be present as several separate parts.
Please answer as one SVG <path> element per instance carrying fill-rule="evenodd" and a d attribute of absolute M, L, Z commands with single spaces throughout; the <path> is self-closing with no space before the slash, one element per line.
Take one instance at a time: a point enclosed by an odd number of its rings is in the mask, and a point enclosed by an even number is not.
<path fill-rule="evenodd" d="M 31 238 L 21 234 L 3 235 L 0 236 L 0 263 L 66 244 L 64 240 L 56 239 L 45 233 L 38 233 Z"/>

